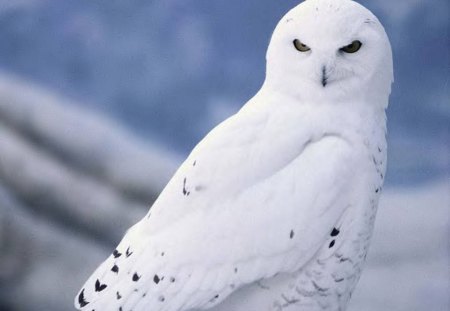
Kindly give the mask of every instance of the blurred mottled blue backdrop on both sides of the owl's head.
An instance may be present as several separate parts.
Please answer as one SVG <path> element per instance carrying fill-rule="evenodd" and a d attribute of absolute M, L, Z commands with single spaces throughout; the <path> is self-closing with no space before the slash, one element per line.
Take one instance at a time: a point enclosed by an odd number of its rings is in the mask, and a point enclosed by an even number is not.
<path fill-rule="evenodd" d="M 2 0 L 0 68 L 186 154 L 257 91 L 271 32 L 298 2 Z M 448 173 L 449 2 L 360 2 L 395 56 L 388 182 Z"/>

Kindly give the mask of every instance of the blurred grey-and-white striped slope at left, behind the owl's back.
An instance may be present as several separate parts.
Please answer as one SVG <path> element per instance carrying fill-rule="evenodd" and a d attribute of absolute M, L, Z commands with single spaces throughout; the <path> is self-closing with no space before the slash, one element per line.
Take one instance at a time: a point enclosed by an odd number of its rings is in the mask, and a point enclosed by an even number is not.
<path fill-rule="evenodd" d="M 0 76 L 0 310 L 72 310 L 179 165 L 108 118 Z"/>

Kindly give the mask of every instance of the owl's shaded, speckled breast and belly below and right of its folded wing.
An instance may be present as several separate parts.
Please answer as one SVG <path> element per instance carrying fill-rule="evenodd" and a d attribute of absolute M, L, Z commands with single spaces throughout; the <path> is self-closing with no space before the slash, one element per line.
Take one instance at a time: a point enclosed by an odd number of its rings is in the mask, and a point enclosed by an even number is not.
<path fill-rule="evenodd" d="M 211 311 L 346 310 L 367 256 L 386 169 L 384 132 L 378 135 L 375 141 L 360 137 L 369 174 L 353 189 L 353 200 L 347 201 L 348 208 L 319 251 L 293 273 L 249 284 Z"/>

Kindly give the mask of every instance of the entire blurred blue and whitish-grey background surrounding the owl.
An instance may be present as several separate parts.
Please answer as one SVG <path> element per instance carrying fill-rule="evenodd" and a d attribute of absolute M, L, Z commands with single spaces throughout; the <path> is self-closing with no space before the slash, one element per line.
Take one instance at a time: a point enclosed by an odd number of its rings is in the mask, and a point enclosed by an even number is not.
<path fill-rule="evenodd" d="M 449 310 L 449 2 L 359 2 L 391 38 L 395 84 L 350 310 Z M 73 310 L 188 152 L 259 89 L 298 3 L 0 0 L 0 310 Z"/>

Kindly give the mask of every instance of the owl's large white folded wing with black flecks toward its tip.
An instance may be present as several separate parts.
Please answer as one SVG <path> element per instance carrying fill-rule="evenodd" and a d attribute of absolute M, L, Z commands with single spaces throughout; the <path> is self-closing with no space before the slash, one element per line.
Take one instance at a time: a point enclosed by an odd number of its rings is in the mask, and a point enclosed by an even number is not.
<path fill-rule="evenodd" d="M 213 130 L 75 306 L 207 309 L 311 259 L 349 204 L 354 152 L 333 133 L 280 136 L 279 121 L 243 112 Z"/>

